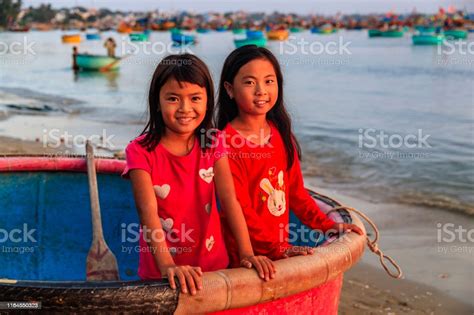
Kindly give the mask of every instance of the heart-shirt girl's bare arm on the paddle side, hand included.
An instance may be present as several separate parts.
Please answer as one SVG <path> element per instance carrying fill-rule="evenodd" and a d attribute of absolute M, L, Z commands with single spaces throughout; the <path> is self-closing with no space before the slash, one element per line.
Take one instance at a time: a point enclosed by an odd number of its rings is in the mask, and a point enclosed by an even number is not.
<path fill-rule="evenodd" d="M 176 289 L 174 280 L 176 276 L 183 293 L 186 293 L 189 288 L 192 295 L 196 294 L 196 288 L 198 290 L 202 288 L 201 269 L 191 266 L 176 266 L 174 263 L 166 244 L 165 232 L 157 215 L 158 204 L 150 174 L 141 169 L 131 170 L 129 174 L 140 223 L 144 227 L 143 231 L 146 232 L 144 237 L 148 246 L 153 249 L 153 257 L 162 276 L 168 276 L 172 289 Z"/>

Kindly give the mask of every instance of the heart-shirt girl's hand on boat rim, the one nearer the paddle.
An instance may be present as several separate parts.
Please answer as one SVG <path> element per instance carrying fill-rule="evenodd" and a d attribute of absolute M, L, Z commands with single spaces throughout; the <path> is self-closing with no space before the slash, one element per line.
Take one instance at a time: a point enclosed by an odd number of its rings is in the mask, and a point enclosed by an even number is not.
<path fill-rule="evenodd" d="M 202 271 L 200 267 L 192 266 L 169 266 L 163 268 L 162 275 L 167 275 L 171 289 L 176 290 L 175 278 L 178 278 L 181 285 L 181 292 L 195 295 L 197 290 L 202 289 Z"/>

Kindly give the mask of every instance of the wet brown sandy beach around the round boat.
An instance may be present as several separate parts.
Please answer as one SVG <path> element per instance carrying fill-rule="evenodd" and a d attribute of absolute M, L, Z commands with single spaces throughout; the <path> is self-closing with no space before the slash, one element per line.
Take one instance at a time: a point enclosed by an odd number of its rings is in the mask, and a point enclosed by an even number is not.
<path fill-rule="evenodd" d="M 0 137 L 0 155 L 58 152 L 66 151 L 44 147 L 40 141 Z M 322 185 L 313 178 L 306 183 Z M 449 252 L 449 248 L 463 244 L 436 242 L 437 222 L 472 228 L 472 219 L 441 210 L 374 204 L 338 191 L 317 190 L 368 214 L 380 229 L 382 250 L 404 271 L 400 280 L 389 277 L 377 257 L 366 249 L 362 261 L 345 274 L 340 314 L 473 314 L 473 253 L 465 250 L 443 254 L 438 247 Z"/>

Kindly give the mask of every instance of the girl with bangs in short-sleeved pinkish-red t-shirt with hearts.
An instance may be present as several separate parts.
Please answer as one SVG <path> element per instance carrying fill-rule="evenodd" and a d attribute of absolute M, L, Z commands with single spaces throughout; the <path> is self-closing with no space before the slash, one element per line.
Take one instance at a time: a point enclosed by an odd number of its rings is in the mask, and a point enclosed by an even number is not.
<path fill-rule="evenodd" d="M 202 137 L 212 127 L 214 108 L 207 66 L 190 54 L 164 58 L 153 74 L 148 103 L 149 121 L 127 146 L 123 173 L 131 179 L 141 223 L 138 275 L 167 277 L 173 289 L 176 276 L 182 292 L 194 295 L 203 271 L 228 267 L 217 193 L 240 265 L 272 278 L 271 260 L 253 254 L 226 149 L 222 141 Z"/>

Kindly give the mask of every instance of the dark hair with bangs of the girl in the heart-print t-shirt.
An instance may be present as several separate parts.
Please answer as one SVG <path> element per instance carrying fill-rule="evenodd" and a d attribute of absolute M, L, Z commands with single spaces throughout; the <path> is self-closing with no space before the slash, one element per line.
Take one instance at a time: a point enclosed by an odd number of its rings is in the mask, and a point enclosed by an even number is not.
<path fill-rule="evenodd" d="M 213 126 L 214 84 L 206 64 L 191 54 L 170 55 L 158 64 L 150 83 L 150 92 L 148 93 L 149 120 L 141 133 L 145 137 L 139 141 L 140 145 L 148 151 L 154 150 L 165 134 L 165 123 L 160 112 L 160 90 L 170 79 L 175 79 L 179 83 L 196 84 L 206 89 L 206 115 L 194 131 L 196 137 L 199 137 L 201 132 L 207 132 Z M 210 141 L 209 138 L 199 137 L 201 148 L 209 147 L 207 143 Z"/>

